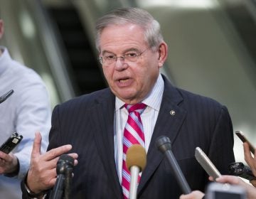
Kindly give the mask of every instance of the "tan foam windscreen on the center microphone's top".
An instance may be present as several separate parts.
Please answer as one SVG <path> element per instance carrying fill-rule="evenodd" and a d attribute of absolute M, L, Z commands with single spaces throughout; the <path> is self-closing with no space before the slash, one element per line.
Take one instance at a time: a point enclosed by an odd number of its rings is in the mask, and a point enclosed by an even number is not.
<path fill-rule="evenodd" d="M 138 166 L 140 172 L 144 170 L 146 166 L 146 151 L 142 145 L 134 144 L 127 150 L 126 156 L 127 168 L 132 166 Z"/>

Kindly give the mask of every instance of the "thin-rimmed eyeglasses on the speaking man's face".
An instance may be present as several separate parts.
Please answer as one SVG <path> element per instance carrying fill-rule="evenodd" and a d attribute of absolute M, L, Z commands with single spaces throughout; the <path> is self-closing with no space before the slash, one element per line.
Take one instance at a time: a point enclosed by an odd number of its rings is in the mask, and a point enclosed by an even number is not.
<path fill-rule="evenodd" d="M 149 50 L 149 48 L 146 48 Z M 125 53 L 122 56 L 117 57 L 116 55 L 103 55 L 99 57 L 99 61 L 101 65 L 112 65 L 113 63 L 117 62 L 117 58 L 122 58 L 125 63 L 134 63 L 137 62 L 139 56 L 141 56 L 146 50 L 142 51 L 142 53 Z"/>

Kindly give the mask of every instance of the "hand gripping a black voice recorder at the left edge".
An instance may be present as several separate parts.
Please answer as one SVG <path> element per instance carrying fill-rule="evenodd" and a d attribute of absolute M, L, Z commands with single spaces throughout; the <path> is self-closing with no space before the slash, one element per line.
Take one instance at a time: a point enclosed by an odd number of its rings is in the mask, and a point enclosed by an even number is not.
<path fill-rule="evenodd" d="M 14 173 L 18 170 L 18 159 L 14 154 L 0 151 L 0 174 Z"/>

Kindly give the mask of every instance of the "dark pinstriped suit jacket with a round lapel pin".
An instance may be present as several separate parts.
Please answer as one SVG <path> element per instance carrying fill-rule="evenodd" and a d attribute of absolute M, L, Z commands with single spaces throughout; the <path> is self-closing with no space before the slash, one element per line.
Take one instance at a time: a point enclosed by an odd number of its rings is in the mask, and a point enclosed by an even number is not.
<path fill-rule="evenodd" d="M 48 150 L 72 144 L 72 151 L 79 156 L 71 198 L 122 198 L 114 162 L 113 124 L 114 95 L 109 88 L 77 97 L 53 110 Z M 164 77 L 164 96 L 138 198 L 170 199 L 182 194 L 168 161 L 154 146 L 161 135 L 171 139 L 174 156 L 192 190 L 204 191 L 208 182 L 208 175 L 194 157 L 196 146 L 222 174 L 227 174 L 228 164 L 235 161 L 228 109 L 213 99 L 173 87 Z"/>

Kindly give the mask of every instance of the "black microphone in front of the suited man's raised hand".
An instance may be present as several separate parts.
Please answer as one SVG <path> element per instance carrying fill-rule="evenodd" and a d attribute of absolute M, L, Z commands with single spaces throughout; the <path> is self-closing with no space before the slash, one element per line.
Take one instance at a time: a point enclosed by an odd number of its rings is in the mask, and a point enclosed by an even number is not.
<path fill-rule="evenodd" d="M 54 185 L 53 192 L 50 194 L 50 199 L 59 199 L 63 195 L 65 187 L 65 198 L 69 198 L 70 181 L 74 167 L 74 158 L 63 154 L 57 162 L 57 181 Z"/>

